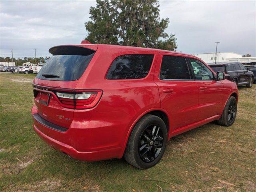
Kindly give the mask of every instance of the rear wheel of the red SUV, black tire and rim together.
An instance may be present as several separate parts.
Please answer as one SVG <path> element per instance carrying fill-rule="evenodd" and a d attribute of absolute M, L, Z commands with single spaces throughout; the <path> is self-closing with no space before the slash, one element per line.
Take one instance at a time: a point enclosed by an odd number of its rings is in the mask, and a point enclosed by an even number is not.
<path fill-rule="evenodd" d="M 155 166 L 167 143 L 167 129 L 158 116 L 146 114 L 134 126 L 124 152 L 125 160 L 139 169 Z"/>

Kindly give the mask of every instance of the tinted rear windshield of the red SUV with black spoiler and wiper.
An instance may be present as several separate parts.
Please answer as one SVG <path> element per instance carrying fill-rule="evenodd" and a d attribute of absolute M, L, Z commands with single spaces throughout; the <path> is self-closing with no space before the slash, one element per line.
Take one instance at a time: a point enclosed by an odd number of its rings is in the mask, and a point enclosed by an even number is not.
<path fill-rule="evenodd" d="M 74 81 L 78 80 L 95 51 L 76 46 L 59 46 L 49 50 L 53 55 L 42 66 L 36 78 L 53 81 Z"/>

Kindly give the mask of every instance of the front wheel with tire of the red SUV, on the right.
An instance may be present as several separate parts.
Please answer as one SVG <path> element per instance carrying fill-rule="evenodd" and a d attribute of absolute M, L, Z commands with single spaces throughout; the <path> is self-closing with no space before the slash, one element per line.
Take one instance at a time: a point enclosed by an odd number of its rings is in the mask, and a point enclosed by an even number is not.
<path fill-rule="evenodd" d="M 220 119 L 217 120 L 216 122 L 219 125 L 223 125 L 227 127 L 231 126 L 236 120 L 236 111 L 237 111 L 236 98 L 234 98 L 233 96 L 230 96 L 220 116 Z"/>

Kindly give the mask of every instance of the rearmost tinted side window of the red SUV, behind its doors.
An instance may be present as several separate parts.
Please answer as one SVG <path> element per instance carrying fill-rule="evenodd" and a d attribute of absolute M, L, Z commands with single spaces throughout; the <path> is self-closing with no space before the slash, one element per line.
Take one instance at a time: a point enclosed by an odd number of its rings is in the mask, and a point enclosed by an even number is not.
<path fill-rule="evenodd" d="M 107 79 L 141 79 L 148 75 L 154 55 L 122 55 L 110 66 Z"/>

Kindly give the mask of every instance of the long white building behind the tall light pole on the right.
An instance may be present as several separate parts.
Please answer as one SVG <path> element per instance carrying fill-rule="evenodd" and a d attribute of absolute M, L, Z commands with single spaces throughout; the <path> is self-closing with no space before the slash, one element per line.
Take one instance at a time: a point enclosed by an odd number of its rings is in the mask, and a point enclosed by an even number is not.
<path fill-rule="evenodd" d="M 196 53 L 192 54 L 202 59 L 206 63 L 215 62 L 216 53 Z M 242 58 L 241 54 L 232 53 L 232 52 L 217 52 L 216 62 L 228 61 L 227 58 Z"/>

